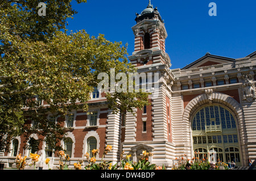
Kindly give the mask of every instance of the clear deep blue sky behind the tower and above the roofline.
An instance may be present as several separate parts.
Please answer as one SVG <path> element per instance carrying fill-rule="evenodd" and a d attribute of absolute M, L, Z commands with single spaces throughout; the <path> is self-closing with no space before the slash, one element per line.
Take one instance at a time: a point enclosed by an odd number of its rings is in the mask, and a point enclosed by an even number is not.
<path fill-rule="evenodd" d="M 217 16 L 209 16 L 210 2 L 216 3 Z M 88 0 L 72 2 L 78 14 L 68 19 L 68 30 L 85 30 L 91 36 L 104 34 L 110 41 L 128 44 L 134 51 L 135 12 L 141 14 L 148 0 Z M 164 19 L 168 37 L 166 53 L 171 69 L 203 57 L 205 53 L 241 58 L 256 50 L 256 1 L 243 0 L 151 0 Z"/>

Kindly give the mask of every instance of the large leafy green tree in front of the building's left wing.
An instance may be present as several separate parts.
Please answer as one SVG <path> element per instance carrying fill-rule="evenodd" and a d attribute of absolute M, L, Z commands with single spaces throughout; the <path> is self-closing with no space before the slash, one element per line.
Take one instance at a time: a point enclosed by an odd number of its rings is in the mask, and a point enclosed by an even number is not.
<path fill-rule="evenodd" d="M 128 63 L 126 46 L 104 35 L 90 37 L 84 30 L 68 32 L 67 18 L 77 12 L 71 0 L 45 1 L 46 16 L 38 15 L 39 0 L 0 0 L 0 150 L 9 150 L 11 138 L 37 133 L 54 149 L 65 136 L 47 115 L 64 117 L 69 111 L 88 110 L 99 73 L 110 75 L 136 69 Z M 77 0 L 77 3 L 86 0 Z M 132 112 L 148 104 L 144 92 L 108 93 L 109 108 Z M 42 104 L 47 102 L 47 106 Z M 79 104 L 77 104 L 79 102 Z M 30 122 L 31 121 L 31 122 Z M 39 123 L 24 127 L 24 123 Z"/>

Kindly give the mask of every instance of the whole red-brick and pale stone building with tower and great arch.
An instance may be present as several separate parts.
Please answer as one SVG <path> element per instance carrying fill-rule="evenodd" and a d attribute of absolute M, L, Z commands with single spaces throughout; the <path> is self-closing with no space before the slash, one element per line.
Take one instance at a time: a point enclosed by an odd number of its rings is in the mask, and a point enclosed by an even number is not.
<path fill-rule="evenodd" d="M 129 59 L 138 73 L 159 75 L 157 81 L 140 82 L 152 92 L 151 105 L 134 108 L 135 115 L 113 114 L 104 94 L 94 91 L 89 102 L 93 115 L 78 110 L 65 120 L 64 126 L 73 128 L 68 132 L 71 141 L 61 142 L 71 155 L 70 165 L 85 160 L 84 154 L 92 149 L 99 149 L 101 158 L 106 145 L 113 146 L 106 155 L 113 162 L 119 161 L 122 151 L 138 161 L 143 150 L 154 154 L 152 163 L 167 167 L 180 155 L 193 158 L 195 151 L 200 158 L 214 153 L 214 161 L 234 161 L 237 166 L 247 166 L 248 159 L 254 161 L 256 52 L 236 59 L 206 53 L 182 69 L 171 69 L 165 47 L 167 31 L 158 9 L 149 2 L 135 21 L 135 47 Z M 0 158 L 7 167 L 15 154 L 30 153 L 22 149 L 22 137 L 11 146 L 13 151 Z M 45 143 L 40 144 L 40 164 L 49 157 L 51 166 L 57 165 L 59 161 L 51 153 Z"/>

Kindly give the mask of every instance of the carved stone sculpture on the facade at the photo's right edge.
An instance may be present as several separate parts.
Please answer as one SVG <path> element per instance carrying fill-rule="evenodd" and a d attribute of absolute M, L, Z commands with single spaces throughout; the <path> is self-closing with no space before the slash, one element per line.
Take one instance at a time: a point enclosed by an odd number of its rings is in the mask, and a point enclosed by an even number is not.
<path fill-rule="evenodd" d="M 253 77 L 249 75 L 243 75 L 242 80 L 242 93 L 243 93 L 243 100 L 247 100 L 248 102 L 252 102 L 256 99 L 255 95 L 255 85 L 253 82 Z"/>

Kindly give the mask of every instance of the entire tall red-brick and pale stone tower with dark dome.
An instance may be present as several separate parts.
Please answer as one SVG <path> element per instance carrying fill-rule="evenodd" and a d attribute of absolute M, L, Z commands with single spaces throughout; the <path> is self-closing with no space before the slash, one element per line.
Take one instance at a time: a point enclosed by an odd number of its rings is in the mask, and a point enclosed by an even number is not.
<path fill-rule="evenodd" d="M 122 143 L 125 154 L 133 155 L 138 162 L 143 150 L 154 154 L 151 162 L 156 165 L 171 166 L 173 158 L 171 126 L 171 86 L 174 82 L 171 60 L 166 53 L 167 31 L 157 7 L 148 2 L 141 14 L 136 13 L 134 32 L 134 52 L 129 56 L 137 72 L 151 79 L 140 82 L 151 92 L 151 103 L 143 110 L 134 108 L 135 115 L 127 113 L 125 138 Z M 154 78 L 153 78 L 154 77 Z M 154 80 L 154 81 L 153 81 Z M 122 130 L 123 131 L 123 130 Z"/>

